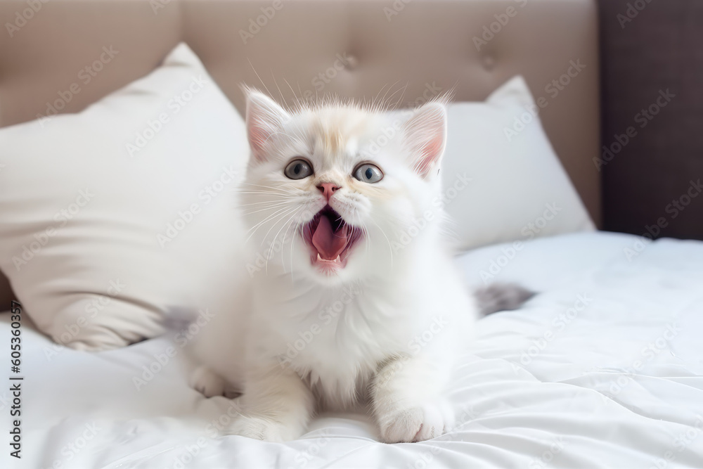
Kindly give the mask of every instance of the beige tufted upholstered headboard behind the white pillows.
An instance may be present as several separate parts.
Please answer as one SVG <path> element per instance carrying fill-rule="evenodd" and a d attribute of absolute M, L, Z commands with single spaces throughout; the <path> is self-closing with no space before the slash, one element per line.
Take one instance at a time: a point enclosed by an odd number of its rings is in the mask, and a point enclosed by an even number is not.
<path fill-rule="evenodd" d="M 0 2 L 0 18 L 0 127 L 57 100 L 62 113 L 82 110 L 181 40 L 239 110 L 241 83 L 288 103 L 295 91 L 411 106 L 449 89 L 482 100 L 522 74 L 545 98 L 547 134 L 600 222 L 594 0 L 34 0 Z M 10 295 L 0 277 L 0 310 Z"/>

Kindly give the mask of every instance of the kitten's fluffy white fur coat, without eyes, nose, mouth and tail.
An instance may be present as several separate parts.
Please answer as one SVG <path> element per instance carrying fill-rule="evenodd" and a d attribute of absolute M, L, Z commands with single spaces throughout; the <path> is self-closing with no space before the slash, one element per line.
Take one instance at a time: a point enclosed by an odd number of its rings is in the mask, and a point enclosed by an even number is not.
<path fill-rule="evenodd" d="M 231 433 L 295 439 L 325 409 L 370 404 L 384 442 L 437 437 L 453 425 L 444 396 L 477 307 L 446 248 L 437 203 L 446 112 L 350 103 L 286 111 L 247 91 L 252 157 L 240 201 L 250 227 L 244 286 L 231 314 L 204 328 L 193 386 L 243 395 Z M 306 158 L 314 174 L 288 179 Z M 354 179 L 370 162 L 381 181 Z M 311 260 L 302 229 L 329 205 L 361 238 L 343 268 Z M 324 264 L 324 263 L 323 263 Z M 327 264 L 324 264 L 325 266 Z"/>

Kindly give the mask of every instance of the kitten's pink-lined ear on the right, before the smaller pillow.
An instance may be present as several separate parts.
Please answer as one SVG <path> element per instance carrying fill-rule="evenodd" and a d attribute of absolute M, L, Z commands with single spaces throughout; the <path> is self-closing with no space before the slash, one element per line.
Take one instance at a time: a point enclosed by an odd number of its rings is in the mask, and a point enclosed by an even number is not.
<path fill-rule="evenodd" d="M 404 126 L 411 165 L 423 178 L 437 174 L 446 143 L 446 108 L 433 101 L 415 110 Z"/>

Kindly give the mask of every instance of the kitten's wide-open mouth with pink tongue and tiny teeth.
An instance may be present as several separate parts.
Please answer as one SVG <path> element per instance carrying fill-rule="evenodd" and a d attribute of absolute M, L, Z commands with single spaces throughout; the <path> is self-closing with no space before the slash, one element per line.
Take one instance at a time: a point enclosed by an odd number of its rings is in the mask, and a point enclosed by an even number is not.
<path fill-rule="evenodd" d="M 361 230 L 347 224 L 342 215 L 329 205 L 317 212 L 303 227 L 303 239 L 310 248 L 310 260 L 324 271 L 347 266 L 347 257 L 359 238 Z"/>

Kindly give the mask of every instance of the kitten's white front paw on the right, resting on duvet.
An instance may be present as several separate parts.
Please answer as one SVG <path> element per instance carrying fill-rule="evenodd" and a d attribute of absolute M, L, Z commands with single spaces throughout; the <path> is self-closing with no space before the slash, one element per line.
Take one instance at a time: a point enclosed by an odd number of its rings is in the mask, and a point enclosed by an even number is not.
<path fill-rule="evenodd" d="M 454 413 L 444 399 L 387 413 L 379 418 L 384 443 L 423 442 L 449 432 Z"/>

